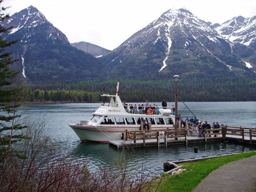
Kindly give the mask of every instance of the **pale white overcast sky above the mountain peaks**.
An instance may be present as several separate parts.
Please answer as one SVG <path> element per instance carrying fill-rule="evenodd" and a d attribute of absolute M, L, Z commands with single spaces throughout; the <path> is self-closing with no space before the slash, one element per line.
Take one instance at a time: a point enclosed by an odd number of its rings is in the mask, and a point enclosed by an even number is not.
<path fill-rule="evenodd" d="M 30 5 L 61 30 L 70 43 L 86 41 L 113 50 L 133 33 L 171 8 L 189 10 L 198 18 L 224 23 L 235 17 L 256 15 L 256 0 L 5 0 L 6 13 Z"/>

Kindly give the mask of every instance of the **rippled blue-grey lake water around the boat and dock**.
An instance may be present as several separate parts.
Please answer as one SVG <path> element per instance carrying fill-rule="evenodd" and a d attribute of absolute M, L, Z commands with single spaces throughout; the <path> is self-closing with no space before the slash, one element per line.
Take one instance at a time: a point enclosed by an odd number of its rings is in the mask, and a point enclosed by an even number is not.
<path fill-rule="evenodd" d="M 129 104 L 129 103 L 128 103 Z M 132 103 L 142 104 L 142 103 Z M 151 103 L 153 104 L 153 103 Z M 161 103 L 155 103 L 161 106 Z M 172 106 L 174 103 L 167 103 Z M 256 102 L 187 102 L 186 105 L 201 121 L 216 122 L 232 126 L 247 128 L 256 127 Z M 32 119 L 46 121 L 48 135 L 61 146 L 61 150 L 68 152 L 76 159 L 89 161 L 91 171 L 99 165 L 113 164 L 121 150 L 101 143 L 81 143 L 79 138 L 68 126 L 68 123 L 87 120 L 91 113 L 100 106 L 99 103 L 76 103 L 76 104 L 52 104 L 30 105 L 29 113 Z M 185 105 L 178 103 L 179 112 Z M 182 116 L 193 116 L 188 109 L 184 109 Z M 198 153 L 194 153 L 194 146 L 198 147 Z M 243 152 L 256 150 L 256 146 L 236 145 L 229 143 L 207 143 L 173 145 L 165 147 L 136 148 L 135 156 L 131 160 L 133 164 L 146 166 L 151 175 L 163 173 L 163 162 L 167 160 L 179 160 L 213 156 L 231 152 Z"/>

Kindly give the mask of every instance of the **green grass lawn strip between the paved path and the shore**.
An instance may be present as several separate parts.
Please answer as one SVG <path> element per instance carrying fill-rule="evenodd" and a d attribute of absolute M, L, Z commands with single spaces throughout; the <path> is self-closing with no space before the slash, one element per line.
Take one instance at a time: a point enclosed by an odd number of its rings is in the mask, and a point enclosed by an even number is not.
<path fill-rule="evenodd" d="M 187 170 L 178 175 L 162 174 L 163 182 L 159 185 L 157 191 L 192 191 L 203 178 L 220 166 L 253 155 L 256 155 L 256 151 L 179 164 Z"/>

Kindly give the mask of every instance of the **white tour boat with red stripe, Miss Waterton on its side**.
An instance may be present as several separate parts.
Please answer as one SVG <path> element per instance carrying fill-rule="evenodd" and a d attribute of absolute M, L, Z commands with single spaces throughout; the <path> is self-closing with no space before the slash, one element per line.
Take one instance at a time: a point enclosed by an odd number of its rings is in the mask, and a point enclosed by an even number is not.
<path fill-rule="evenodd" d="M 87 121 L 71 123 L 69 126 L 74 130 L 82 142 L 109 142 L 120 140 L 122 132 L 141 130 L 141 121 L 145 120 L 144 128 L 148 129 L 151 122 L 152 130 L 174 129 L 175 116 L 171 109 L 155 107 L 149 109 L 146 114 L 128 113 L 119 96 L 104 94 L 101 106 Z M 108 101 L 108 102 L 106 102 Z M 137 106 L 140 107 L 140 106 Z M 142 106 L 145 110 L 144 106 Z M 133 110 L 132 110 L 133 112 Z M 155 113 L 152 113 L 155 112 Z"/>

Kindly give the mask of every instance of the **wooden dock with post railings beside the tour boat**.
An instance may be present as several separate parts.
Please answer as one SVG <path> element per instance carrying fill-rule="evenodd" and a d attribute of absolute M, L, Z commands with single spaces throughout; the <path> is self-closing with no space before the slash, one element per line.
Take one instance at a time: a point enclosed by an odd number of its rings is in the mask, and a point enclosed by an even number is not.
<path fill-rule="evenodd" d="M 210 131 L 210 133 L 208 133 Z M 220 129 L 204 129 L 204 137 L 188 136 L 190 130 L 187 128 L 180 128 L 177 131 L 165 130 L 142 130 L 132 131 L 123 134 L 122 140 L 110 141 L 109 145 L 115 146 L 118 149 L 123 147 L 150 147 L 150 146 L 164 146 L 190 143 L 207 143 L 207 142 L 233 142 L 256 144 L 256 128 L 242 128 L 222 125 Z M 216 133 L 218 132 L 218 133 Z M 211 135 L 211 137 L 207 137 Z M 216 135 L 216 137 L 214 137 Z"/>

